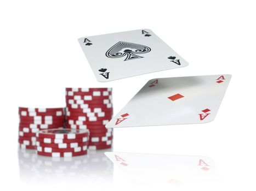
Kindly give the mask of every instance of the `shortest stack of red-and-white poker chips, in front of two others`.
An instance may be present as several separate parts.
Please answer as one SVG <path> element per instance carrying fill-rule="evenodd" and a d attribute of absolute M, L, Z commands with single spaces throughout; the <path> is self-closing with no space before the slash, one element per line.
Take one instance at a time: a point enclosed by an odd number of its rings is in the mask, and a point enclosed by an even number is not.
<path fill-rule="evenodd" d="M 75 157 L 87 154 L 89 131 L 47 129 L 36 133 L 36 151 L 45 157 Z"/>

